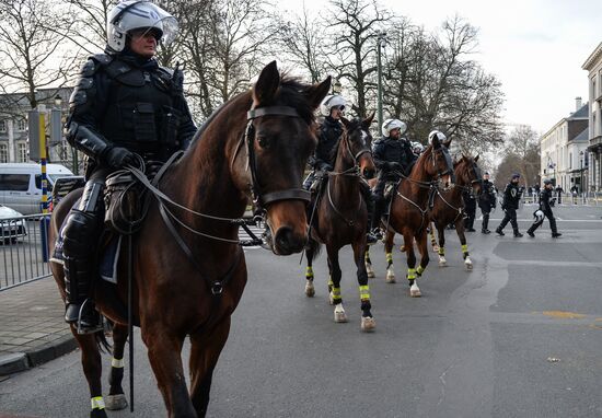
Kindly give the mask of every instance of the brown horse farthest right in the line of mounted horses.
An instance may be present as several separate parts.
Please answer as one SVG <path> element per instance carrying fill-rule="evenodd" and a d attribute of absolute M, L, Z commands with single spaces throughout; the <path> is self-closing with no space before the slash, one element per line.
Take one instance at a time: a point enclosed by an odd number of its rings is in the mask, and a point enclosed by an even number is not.
<path fill-rule="evenodd" d="M 464 234 L 464 200 L 462 193 L 481 194 L 481 170 L 476 162 L 478 155 L 474 159 L 462 155 L 460 161 L 454 163 L 455 184 L 449 190 L 437 190 L 432 201 L 432 208 L 429 211 L 431 225 L 430 242 L 439 254 L 439 266 L 447 266 L 445 260 L 445 227 L 450 223 L 455 225 L 455 232 L 462 245 L 462 255 L 466 269 L 473 269 L 473 262 L 468 254 L 468 245 Z M 435 229 L 439 236 L 439 246 L 435 247 Z"/>

